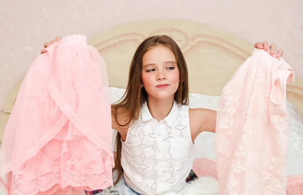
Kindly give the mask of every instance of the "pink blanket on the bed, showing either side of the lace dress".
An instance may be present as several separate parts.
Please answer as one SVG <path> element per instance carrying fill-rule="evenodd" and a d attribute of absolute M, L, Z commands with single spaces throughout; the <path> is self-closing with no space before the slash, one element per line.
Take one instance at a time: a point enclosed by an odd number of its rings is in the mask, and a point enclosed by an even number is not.
<path fill-rule="evenodd" d="M 197 178 L 213 177 L 218 180 L 217 164 L 215 161 L 206 158 L 194 159 L 192 171 Z M 286 195 L 298 194 L 303 194 L 303 174 L 287 177 Z"/>

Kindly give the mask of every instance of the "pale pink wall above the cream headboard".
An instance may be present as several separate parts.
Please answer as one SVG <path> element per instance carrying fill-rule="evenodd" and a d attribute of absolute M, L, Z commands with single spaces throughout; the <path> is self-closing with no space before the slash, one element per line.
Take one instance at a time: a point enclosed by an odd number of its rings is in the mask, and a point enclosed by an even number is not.
<path fill-rule="evenodd" d="M 91 36 L 111 27 L 146 19 L 207 23 L 254 43 L 268 40 L 303 77 L 303 1 L 64 0 L 0 3 L 0 111 L 14 86 L 56 35 Z"/>

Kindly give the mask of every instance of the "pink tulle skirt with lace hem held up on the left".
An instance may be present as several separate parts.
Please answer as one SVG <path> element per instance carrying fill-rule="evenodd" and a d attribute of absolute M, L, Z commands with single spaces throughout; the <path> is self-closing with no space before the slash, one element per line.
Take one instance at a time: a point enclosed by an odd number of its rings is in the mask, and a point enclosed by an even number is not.
<path fill-rule="evenodd" d="M 50 194 L 70 191 L 68 186 L 72 191 L 111 186 L 105 63 L 83 35 L 64 37 L 46 50 L 27 72 L 6 126 L 2 188 L 10 194 Z"/>

